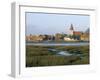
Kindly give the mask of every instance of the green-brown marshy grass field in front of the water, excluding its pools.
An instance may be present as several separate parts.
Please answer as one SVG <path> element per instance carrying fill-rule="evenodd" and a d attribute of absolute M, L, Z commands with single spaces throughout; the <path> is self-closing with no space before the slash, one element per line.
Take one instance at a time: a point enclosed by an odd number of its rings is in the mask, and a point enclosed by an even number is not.
<path fill-rule="evenodd" d="M 54 49 L 57 51 L 50 51 Z M 71 56 L 58 55 L 67 51 Z M 89 64 L 89 46 L 29 46 L 26 45 L 26 67 Z"/>

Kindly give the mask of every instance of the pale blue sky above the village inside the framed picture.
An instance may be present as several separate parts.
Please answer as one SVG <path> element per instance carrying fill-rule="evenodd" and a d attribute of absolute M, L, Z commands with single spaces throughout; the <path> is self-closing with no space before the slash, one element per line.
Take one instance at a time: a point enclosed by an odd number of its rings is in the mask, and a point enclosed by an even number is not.
<path fill-rule="evenodd" d="M 74 14 L 48 14 L 26 12 L 26 35 L 68 33 L 73 24 L 75 31 L 86 31 L 90 16 Z"/>

